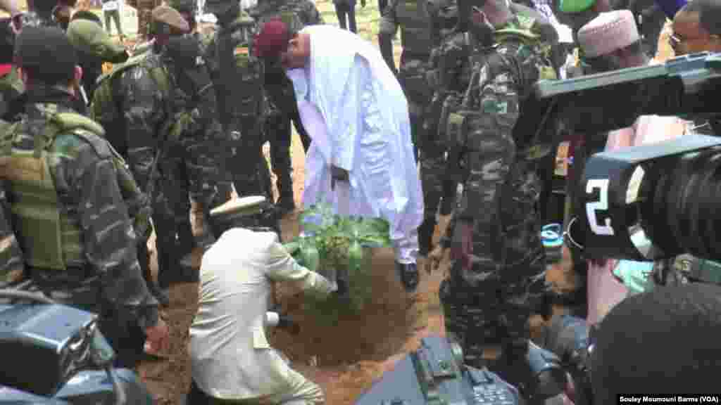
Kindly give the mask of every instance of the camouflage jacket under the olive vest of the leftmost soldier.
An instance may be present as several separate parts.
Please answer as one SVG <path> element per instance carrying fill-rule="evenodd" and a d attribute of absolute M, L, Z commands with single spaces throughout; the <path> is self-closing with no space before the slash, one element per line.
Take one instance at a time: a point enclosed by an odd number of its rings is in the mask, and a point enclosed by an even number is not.
<path fill-rule="evenodd" d="M 32 151 L 34 138 L 45 128 L 48 114 L 74 112 L 77 104 L 66 92 L 43 87 L 32 89 L 23 98 L 25 112 L 17 129 L 20 135 L 12 144 L 12 150 L 6 153 Z M 136 319 L 141 328 L 153 326 L 158 319 L 158 302 L 149 293 L 141 275 L 133 227 L 118 186 L 110 145 L 92 133 L 84 137 L 59 133 L 48 151 L 48 161 L 52 162 L 48 169 L 58 195 L 59 209 L 81 229 L 81 254 L 74 267 L 83 269 L 84 273 L 80 274 L 86 278 L 76 280 L 72 277 L 75 282 L 68 283 L 68 275 L 44 269 L 33 269 L 32 275 L 71 295 L 75 290 L 99 287 L 107 302 Z M 9 181 L 5 183 L 9 184 Z M 12 187 L 6 193 L 7 200 L 12 202 Z M 0 246 L 0 257 L 4 260 L 0 268 L 4 269 L 15 267 L 20 254 L 19 246 L 12 243 L 14 239 L 10 238 L 9 229 L 9 223 L 0 222 L 0 235 L 8 242 Z M 22 247 L 27 249 L 28 246 Z M 79 271 L 67 272 L 77 275 Z"/>

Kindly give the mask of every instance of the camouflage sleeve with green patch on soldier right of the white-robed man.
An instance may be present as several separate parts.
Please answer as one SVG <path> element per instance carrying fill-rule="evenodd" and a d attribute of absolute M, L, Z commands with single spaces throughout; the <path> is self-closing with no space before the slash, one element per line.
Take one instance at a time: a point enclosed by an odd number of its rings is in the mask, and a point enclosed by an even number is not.
<path fill-rule="evenodd" d="M 485 63 L 477 67 L 472 82 L 466 120 L 466 165 L 464 186 L 456 226 L 473 223 L 474 233 L 487 234 L 497 226 L 500 193 L 516 159 L 513 127 L 518 120 L 516 75 L 507 63 Z M 474 241 L 486 244 L 490 241 Z M 475 250 L 475 249 L 474 249 Z"/>

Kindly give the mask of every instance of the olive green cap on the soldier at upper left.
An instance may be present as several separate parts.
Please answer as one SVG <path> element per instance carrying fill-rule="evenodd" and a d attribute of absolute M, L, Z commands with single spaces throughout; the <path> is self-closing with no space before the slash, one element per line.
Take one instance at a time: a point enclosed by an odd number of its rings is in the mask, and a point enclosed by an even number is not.
<path fill-rule="evenodd" d="M 127 55 L 125 47 L 112 40 L 97 22 L 74 19 L 68 25 L 67 34 L 76 50 L 97 56 L 102 61 L 115 63 Z"/>

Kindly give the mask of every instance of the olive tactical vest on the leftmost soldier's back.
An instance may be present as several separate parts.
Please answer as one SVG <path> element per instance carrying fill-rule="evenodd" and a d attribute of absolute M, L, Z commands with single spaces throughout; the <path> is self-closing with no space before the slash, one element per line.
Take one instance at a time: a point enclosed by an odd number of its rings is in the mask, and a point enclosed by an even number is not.
<path fill-rule="evenodd" d="M 13 148 L 22 135 L 21 124 L 6 124 L 0 131 L 3 151 L 0 178 L 9 182 L 12 218 L 25 262 L 30 267 L 48 270 L 82 267 L 86 260 L 79 218 L 71 217 L 63 209 L 50 166 L 57 155 L 68 153 L 68 146 L 71 152 L 73 141 L 67 135 L 76 135 L 98 153 L 107 153 L 94 138 L 102 137 L 105 131 L 93 120 L 74 112 L 56 113 L 48 119 L 43 133 L 35 135 L 34 150 L 28 151 Z M 102 157 L 110 157 L 116 168 L 125 164 L 112 148 L 107 150 L 112 156 Z M 130 185 L 123 182 L 121 187 Z M 121 189 L 124 195 L 131 191 Z"/>

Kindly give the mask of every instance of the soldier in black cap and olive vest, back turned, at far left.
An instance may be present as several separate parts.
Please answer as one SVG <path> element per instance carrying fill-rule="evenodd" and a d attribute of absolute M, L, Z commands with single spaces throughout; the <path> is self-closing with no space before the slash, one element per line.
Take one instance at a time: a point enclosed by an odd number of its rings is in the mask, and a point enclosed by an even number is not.
<path fill-rule="evenodd" d="M 17 268 L 22 252 L 26 275 L 40 290 L 99 313 L 120 365 L 133 367 L 143 352 L 143 331 L 158 350 L 168 330 L 141 277 L 118 183 L 129 173 L 101 137 L 102 128 L 77 112 L 84 110 L 75 94 L 81 73 L 66 35 L 25 27 L 15 55 L 28 92 L 22 120 L 2 123 L 0 130 L 0 178 L 17 238 L 4 234 L 11 243 L 0 252 L 8 261 L 0 268 Z"/>

